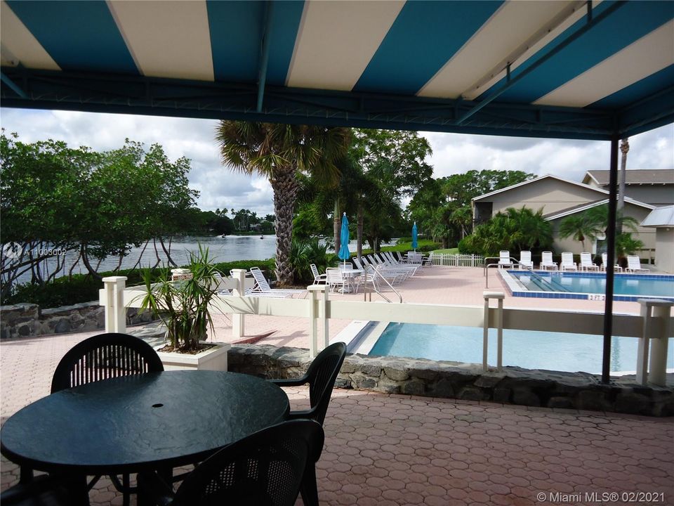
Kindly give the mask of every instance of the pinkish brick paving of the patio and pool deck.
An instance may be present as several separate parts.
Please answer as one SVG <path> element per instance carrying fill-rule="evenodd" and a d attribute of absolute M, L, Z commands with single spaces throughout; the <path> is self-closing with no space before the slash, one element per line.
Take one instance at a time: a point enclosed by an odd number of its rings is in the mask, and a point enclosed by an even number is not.
<path fill-rule="evenodd" d="M 502 288 L 493 272 L 490 285 Z M 482 270 L 470 268 L 425 268 L 402 287 L 406 301 L 437 304 L 482 305 L 482 290 Z M 604 308 L 597 301 L 508 296 L 505 306 Z M 620 302 L 614 311 L 638 313 L 638 307 Z M 331 320 L 331 335 L 346 323 Z M 262 341 L 268 344 L 306 346 L 306 326 L 301 318 L 246 318 L 246 334 L 274 332 Z M 228 320 L 218 318 L 217 327 L 216 339 L 231 341 Z M 1 421 L 48 395 L 60 357 L 96 333 L 2 342 Z M 287 391 L 293 408 L 308 405 L 305 389 Z M 597 505 L 635 503 L 623 493 L 658 493 L 661 504 L 674 505 L 673 421 L 336 390 L 324 425 L 319 498 L 323 505 Z M 18 480 L 18 469 L 5 458 L 0 466 L 4 490 Z M 603 493 L 619 500 L 602 500 Z M 121 495 L 102 479 L 91 503 L 119 505 Z"/>

